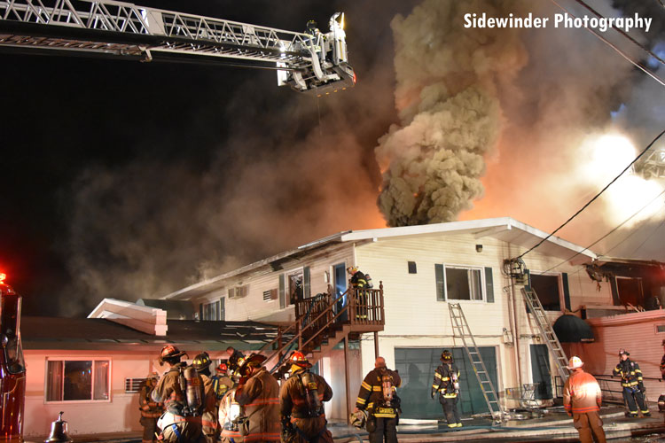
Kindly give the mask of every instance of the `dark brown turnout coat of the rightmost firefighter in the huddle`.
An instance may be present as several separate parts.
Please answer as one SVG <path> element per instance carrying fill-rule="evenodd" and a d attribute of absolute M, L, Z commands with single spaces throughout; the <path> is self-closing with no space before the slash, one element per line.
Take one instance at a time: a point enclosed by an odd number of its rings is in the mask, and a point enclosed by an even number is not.
<path fill-rule="evenodd" d="M 320 410 L 312 411 L 308 406 L 307 392 L 302 382 L 303 371 L 298 371 L 289 377 L 279 391 L 279 408 L 283 417 L 289 418 L 296 429 L 293 441 L 308 441 L 319 438 L 321 443 L 332 442 L 332 434 L 326 430 L 325 411 L 323 402 L 332 399 L 332 388 L 324 377 L 317 374 L 310 376 L 317 384 Z"/>

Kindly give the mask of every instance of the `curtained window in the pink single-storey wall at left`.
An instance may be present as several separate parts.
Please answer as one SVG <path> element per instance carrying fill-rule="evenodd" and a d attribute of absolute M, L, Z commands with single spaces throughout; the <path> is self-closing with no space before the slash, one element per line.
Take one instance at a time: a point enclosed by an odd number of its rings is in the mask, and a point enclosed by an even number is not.
<path fill-rule="evenodd" d="M 46 369 L 46 401 L 110 399 L 108 360 L 49 360 Z"/>

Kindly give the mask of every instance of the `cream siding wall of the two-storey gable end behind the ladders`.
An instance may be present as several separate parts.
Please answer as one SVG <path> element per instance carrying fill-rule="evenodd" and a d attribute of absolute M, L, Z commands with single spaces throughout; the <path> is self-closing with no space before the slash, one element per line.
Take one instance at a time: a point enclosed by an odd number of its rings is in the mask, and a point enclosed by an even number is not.
<path fill-rule="evenodd" d="M 482 245 L 477 253 L 475 245 Z M 469 234 L 438 235 L 380 239 L 356 248 L 356 260 L 360 269 L 372 275 L 375 287 L 384 285 L 386 304 L 386 329 L 379 332 L 379 354 L 388 366 L 395 367 L 395 347 L 446 347 L 462 346 L 459 338 L 453 338 L 448 303 L 436 300 L 434 264 L 491 267 L 494 285 L 494 303 L 485 301 L 461 301 L 462 309 L 478 346 L 497 347 L 499 390 L 530 383 L 531 366 L 529 345 L 541 343 L 536 323 L 527 315 L 520 286 L 515 287 L 519 349 L 506 346 L 502 338 L 504 328 L 512 330 L 509 321 L 510 279 L 502 274 L 503 260 L 516 257 L 525 250 L 490 237 L 474 238 Z M 573 253 L 570 253 L 573 255 Z M 537 250 L 524 258 L 527 268 L 543 272 L 562 261 L 546 256 Z M 417 274 L 409 274 L 408 261 L 415 261 Z M 601 291 L 587 276 L 582 266 L 568 263 L 550 272 L 566 272 L 571 307 L 581 304 L 611 304 L 609 285 Z M 504 291 L 505 289 L 505 291 Z M 561 308 L 565 307 L 561 291 Z M 550 314 L 552 323 L 561 315 Z M 371 335 L 362 341 L 363 372 L 373 368 L 374 345 Z M 519 354 L 519 357 L 518 355 Z M 521 379 L 515 370 L 520 360 Z M 433 368 L 434 370 L 434 368 Z"/>

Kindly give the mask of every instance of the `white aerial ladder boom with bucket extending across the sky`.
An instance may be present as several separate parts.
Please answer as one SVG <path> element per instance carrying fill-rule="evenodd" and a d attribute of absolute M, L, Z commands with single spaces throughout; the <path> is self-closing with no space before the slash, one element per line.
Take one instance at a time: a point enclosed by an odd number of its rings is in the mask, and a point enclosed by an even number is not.
<path fill-rule="evenodd" d="M 113 0 L 0 0 L 0 51 L 212 62 L 278 71 L 278 84 L 317 95 L 356 83 L 344 15 L 309 33 Z"/>

